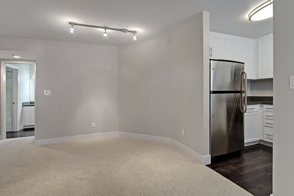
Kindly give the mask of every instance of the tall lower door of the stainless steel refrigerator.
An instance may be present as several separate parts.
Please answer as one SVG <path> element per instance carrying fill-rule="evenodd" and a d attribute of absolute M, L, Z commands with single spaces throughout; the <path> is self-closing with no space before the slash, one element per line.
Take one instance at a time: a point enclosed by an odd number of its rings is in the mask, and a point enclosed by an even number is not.
<path fill-rule="evenodd" d="M 218 156 L 244 149 L 241 94 L 211 94 L 210 153 Z"/>

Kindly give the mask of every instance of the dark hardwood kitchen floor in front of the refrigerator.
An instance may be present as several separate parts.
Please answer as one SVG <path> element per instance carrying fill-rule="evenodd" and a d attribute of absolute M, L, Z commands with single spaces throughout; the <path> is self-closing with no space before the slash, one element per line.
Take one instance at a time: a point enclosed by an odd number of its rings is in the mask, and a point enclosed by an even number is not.
<path fill-rule="evenodd" d="M 272 194 L 272 147 L 245 147 L 241 152 L 213 158 L 208 167 L 254 196 Z"/>

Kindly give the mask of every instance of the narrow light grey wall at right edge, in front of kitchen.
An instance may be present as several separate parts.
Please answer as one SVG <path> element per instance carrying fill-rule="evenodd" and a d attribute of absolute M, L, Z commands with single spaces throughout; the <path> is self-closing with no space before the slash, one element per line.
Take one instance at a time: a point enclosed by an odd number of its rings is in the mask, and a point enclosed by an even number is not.
<path fill-rule="evenodd" d="M 294 1 L 275 0 L 273 19 L 273 196 L 294 195 Z"/>

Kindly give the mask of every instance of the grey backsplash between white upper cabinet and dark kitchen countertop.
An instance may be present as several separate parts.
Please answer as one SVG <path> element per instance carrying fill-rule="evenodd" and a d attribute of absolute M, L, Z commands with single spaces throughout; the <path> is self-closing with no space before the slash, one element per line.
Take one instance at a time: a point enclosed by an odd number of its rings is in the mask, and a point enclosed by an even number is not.
<path fill-rule="evenodd" d="M 251 80 L 247 81 L 248 96 L 273 96 L 273 80 Z M 250 89 L 249 89 L 250 88 Z"/>

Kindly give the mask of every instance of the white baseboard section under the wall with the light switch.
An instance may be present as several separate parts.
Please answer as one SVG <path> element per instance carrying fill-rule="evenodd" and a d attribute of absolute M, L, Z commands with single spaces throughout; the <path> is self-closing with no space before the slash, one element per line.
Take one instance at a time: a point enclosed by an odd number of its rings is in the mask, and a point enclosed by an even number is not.
<path fill-rule="evenodd" d="M 108 137 L 117 137 L 118 131 L 114 132 L 105 132 L 105 133 L 95 133 L 95 134 L 87 134 L 87 135 L 76 135 L 62 138 L 49 138 L 43 140 L 35 140 L 35 145 L 47 145 L 47 144 L 56 144 L 62 142 L 72 142 L 72 141 L 82 141 L 82 140 L 91 140 L 91 139 L 100 139 L 100 138 L 108 138 Z"/>

